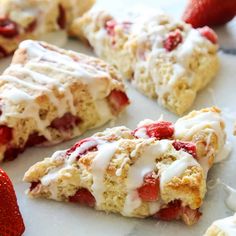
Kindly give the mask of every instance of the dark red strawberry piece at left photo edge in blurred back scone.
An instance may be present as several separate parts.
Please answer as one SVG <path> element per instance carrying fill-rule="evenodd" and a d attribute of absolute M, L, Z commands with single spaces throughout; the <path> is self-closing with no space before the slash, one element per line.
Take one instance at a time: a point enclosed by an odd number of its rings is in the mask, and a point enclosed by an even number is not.
<path fill-rule="evenodd" d="M 14 38 L 18 35 L 17 24 L 9 19 L 0 18 L 0 35 L 5 38 Z"/>

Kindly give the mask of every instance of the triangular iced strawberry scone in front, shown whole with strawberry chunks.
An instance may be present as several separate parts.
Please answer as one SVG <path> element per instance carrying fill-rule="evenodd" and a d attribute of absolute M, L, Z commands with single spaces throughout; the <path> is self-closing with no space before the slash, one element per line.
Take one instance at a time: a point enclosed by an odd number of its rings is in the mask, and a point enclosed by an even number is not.
<path fill-rule="evenodd" d="M 183 141 L 177 136 L 184 119 L 192 122 L 185 127 L 191 136 Z M 224 122 L 215 108 L 192 112 L 175 125 L 145 120 L 135 130 L 106 129 L 55 152 L 32 166 L 24 181 L 31 183 L 31 197 L 191 225 L 201 215 L 206 192 L 206 171 L 199 162 L 214 159 L 224 140 Z"/>

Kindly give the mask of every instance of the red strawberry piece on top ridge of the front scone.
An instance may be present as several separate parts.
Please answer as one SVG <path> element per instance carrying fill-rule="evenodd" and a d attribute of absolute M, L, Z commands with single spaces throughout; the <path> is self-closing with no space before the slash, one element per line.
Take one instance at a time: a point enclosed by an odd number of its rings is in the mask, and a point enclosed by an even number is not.
<path fill-rule="evenodd" d="M 134 130 L 133 132 L 134 136 L 135 133 L 141 128 L 146 129 L 146 134 L 150 138 L 156 138 L 158 140 L 171 138 L 174 134 L 174 125 L 168 121 L 159 121 L 157 123 L 152 123 L 150 125 L 141 126 L 136 130 Z"/>

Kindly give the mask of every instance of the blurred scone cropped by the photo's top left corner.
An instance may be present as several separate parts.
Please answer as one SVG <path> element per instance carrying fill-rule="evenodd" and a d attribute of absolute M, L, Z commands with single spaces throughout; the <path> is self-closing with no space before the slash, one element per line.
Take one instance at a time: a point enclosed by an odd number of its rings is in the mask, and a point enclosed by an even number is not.
<path fill-rule="evenodd" d="M 11 54 L 25 39 L 65 29 L 95 0 L 1 0 L 0 57 Z"/>

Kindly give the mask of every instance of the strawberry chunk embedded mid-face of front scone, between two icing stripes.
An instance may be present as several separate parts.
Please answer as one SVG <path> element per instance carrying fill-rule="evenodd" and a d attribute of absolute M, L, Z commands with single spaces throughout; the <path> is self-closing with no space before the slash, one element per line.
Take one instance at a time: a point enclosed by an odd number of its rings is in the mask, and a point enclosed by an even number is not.
<path fill-rule="evenodd" d="M 139 197 L 145 202 L 157 201 L 160 194 L 160 181 L 152 173 L 144 177 L 144 183 L 138 188 Z"/>

